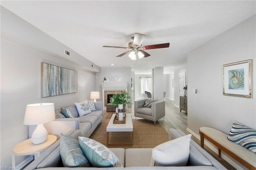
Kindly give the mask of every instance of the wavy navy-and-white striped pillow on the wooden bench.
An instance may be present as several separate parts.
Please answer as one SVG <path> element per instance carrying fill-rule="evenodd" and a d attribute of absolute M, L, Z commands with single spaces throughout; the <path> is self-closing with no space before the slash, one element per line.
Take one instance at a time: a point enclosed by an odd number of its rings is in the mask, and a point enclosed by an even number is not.
<path fill-rule="evenodd" d="M 256 130 L 234 121 L 227 138 L 256 153 Z"/>

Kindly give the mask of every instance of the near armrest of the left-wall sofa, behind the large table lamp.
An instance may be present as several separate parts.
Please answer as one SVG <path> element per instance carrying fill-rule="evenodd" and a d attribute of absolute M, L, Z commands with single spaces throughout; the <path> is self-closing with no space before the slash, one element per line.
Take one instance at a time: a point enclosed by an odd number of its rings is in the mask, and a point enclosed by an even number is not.
<path fill-rule="evenodd" d="M 44 127 L 46 128 L 48 134 L 54 134 L 57 138 L 60 138 L 60 133 L 66 134 L 70 130 L 79 129 L 79 119 L 78 118 L 60 118 L 55 119 L 52 122 L 45 123 Z M 28 133 L 29 138 L 31 138 L 32 133 L 36 129 L 37 125 L 29 125 Z"/>

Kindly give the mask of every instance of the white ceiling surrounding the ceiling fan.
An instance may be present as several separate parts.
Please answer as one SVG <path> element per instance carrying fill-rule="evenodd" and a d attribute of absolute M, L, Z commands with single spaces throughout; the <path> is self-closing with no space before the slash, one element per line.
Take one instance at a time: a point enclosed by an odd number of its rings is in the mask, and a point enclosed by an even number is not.
<path fill-rule="evenodd" d="M 1 5 L 100 67 L 132 67 L 136 74 L 186 65 L 186 53 L 255 15 L 256 1 L 1 1 Z M 170 43 L 146 50 L 132 61 L 115 57 L 134 33 L 142 45 Z M 110 64 L 114 64 L 111 66 Z M 174 68 L 171 68 L 174 67 Z"/>

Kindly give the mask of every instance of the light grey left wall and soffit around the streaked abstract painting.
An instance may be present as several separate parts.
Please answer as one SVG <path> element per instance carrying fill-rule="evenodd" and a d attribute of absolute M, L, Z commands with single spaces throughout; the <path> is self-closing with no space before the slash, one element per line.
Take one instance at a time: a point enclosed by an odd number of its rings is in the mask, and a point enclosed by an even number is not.
<path fill-rule="evenodd" d="M 19 33 L 22 35 L 17 34 L 20 30 L 24 30 Z M 42 39 L 38 38 L 38 35 Z M 44 50 L 38 46 L 42 44 Z M 54 103 L 55 109 L 60 109 L 74 102 L 89 99 L 90 91 L 95 91 L 95 73 L 84 69 L 86 65 L 75 64 L 76 61 L 67 62 L 68 59 L 52 51 L 55 46 L 56 49 L 66 48 L 57 40 L 1 7 L 1 167 L 12 166 L 12 148 L 28 139 L 28 126 L 23 125 L 26 105 Z M 72 53 L 79 61 L 87 61 L 77 53 Z M 60 60 L 61 58 L 64 61 Z M 78 71 L 78 93 L 41 98 L 41 62 Z M 16 156 L 16 165 L 26 158 L 28 156 Z"/>

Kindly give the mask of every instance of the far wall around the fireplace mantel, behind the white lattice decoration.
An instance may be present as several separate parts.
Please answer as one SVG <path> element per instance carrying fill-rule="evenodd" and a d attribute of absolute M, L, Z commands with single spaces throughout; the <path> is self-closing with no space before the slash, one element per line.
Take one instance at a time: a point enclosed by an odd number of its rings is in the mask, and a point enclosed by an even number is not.
<path fill-rule="evenodd" d="M 128 83 L 127 91 L 131 94 L 131 77 L 132 77 L 132 69 L 131 67 L 103 67 L 101 68 L 101 73 L 96 73 L 97 79 L 96 79 L 96 91 L 100 92 L 100 99 L 97 99 L 97 101 L 102 101 L 102 82 L 104 77 L 109 77 L 110 75 L 122 75 L 124 79 L 122 81 L 116 81 L 116 83 Z M 111 81 L 110 82 L 115 82 Z M 130 99 L 130 103 L 132 103 Z M 131 109 L 131 105 L 128 105 L 128 109 Z"/>

